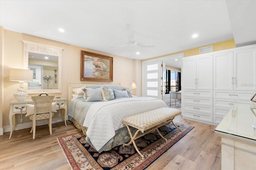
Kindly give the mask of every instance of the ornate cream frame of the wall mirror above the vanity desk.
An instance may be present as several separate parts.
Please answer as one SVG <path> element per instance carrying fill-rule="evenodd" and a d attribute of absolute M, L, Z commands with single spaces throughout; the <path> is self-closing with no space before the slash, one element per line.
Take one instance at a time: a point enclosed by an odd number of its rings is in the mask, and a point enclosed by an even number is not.
<path fill-rule="evenodd" d="M 43 55 L 52 55 L 58 57 L 58 89 L 28 89 L 28 83 L 24 83 L 24 87 L 28 94 L 38 93 L 61 93 L 62 92 L 62 48 L 49 45 L 23 41 L 24 43 L 24 69 L 28 69 L 28 53 L 38 53 Z"/>

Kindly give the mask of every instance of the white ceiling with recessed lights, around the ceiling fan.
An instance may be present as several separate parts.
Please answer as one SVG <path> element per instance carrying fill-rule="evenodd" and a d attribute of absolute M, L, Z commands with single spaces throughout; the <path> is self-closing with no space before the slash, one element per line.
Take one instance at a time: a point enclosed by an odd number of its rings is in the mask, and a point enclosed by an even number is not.
<path fill-rule="evenodd" d="M 128 41 L 126 23 L 132 25 L 135 41 L 156 47 L 110 48 Z M 0 0 L 0 25 L 20 33 L 143 60 L 230 39 L 235 39 L 239 46 L 256 43 L 256 1 Z M 65 32 L 59 32 L 59 28 Z M 198 37 L 193 39 L 194 33 Z"/>

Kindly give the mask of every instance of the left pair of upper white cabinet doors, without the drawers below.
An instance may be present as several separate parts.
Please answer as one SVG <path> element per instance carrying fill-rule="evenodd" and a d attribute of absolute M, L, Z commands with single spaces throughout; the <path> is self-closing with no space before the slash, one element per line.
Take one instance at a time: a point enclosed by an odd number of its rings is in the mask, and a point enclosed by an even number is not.
<path fill-rule="evenodd" d="M 212 90 L 212 55 L 184 59 L 183 89 Z"/>

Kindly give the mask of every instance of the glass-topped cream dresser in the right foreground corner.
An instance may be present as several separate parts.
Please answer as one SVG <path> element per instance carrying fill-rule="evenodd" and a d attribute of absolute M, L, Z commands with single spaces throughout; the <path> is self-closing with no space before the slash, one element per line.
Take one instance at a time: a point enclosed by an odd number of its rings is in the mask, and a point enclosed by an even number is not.
<path fill-rule="evenodd" d="M 256 169 L 256 116 L 250 109 L 255 104 L 236 102 L 215 129 L 221 137 L 223 170 Z"/>

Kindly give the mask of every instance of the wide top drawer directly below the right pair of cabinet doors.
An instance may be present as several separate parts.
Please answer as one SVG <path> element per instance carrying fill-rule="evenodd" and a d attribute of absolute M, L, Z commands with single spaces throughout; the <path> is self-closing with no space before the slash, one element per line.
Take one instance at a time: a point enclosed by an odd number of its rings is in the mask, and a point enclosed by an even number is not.
<path fill-rule="evenodd" d="M 224 91 L 213 90 L 213 98 L 235 99 L 235 100 L 250 100 L 254 91 Z"/>

